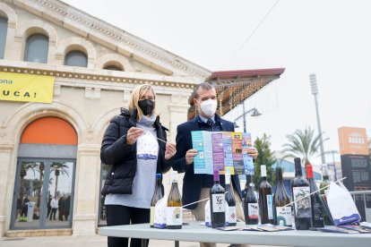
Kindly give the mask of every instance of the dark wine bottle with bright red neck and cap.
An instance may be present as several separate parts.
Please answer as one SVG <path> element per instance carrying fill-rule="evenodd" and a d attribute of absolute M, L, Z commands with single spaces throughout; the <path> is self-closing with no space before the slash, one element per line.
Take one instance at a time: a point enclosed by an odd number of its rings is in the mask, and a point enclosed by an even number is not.
<path fill-rule="evenodd" d="M 309 182 L 310 192 L 318 191 L 313 176 L 313 167 L 310 164 L 306 165 L 306 178 Z M 310 196 L 310 207 L 312 209 L 312 227 L 324 227 L 324 215 L 321 200 L 319 199 L 320 193 L 315 192 Z"/>

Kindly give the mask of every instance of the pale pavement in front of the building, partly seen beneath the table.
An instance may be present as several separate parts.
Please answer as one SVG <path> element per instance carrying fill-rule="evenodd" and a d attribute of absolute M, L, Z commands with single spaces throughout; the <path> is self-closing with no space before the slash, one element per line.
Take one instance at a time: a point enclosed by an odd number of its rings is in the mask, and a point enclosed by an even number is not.
<path fill-rule="evenodd" d="M 89 236 L 42 236 L 42 237 L 2 237 L 1 247 L 106 247 L 107 237 L 100 235 Z M 173 247 L 173 241 L 151 240 L 149 247 Z M 180 242 L 180 247 L 199 247 L 196 242 Z M 218 247 L 227 247 L 229 244 L 218 243 Z M 251 245 L 257 247 L 258 245 Z M 263 247 L 263 245 L 259 245 Z M 267 247 L 267 246 L 265 246 Z M 272 246 L 270 246 L 272 247 Z"/>

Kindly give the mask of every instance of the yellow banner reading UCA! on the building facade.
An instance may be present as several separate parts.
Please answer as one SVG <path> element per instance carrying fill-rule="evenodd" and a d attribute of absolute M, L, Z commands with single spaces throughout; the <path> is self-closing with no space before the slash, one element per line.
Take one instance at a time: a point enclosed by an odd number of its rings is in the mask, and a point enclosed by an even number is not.
<path fill-rule="evenodd" d="M 0 72 L 0 100 L 52 103 L 54 76 Z"/>

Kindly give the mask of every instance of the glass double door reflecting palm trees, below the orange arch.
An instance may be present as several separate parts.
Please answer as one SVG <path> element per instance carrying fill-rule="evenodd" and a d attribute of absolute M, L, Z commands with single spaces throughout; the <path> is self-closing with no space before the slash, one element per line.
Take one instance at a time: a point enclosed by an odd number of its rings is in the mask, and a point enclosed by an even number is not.
<path fill-rule="evenodd" d="M 20 158 L 11 229 L 72 227 L 74 160 Z"/>

